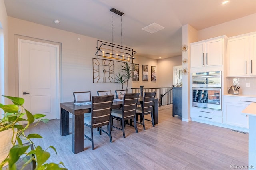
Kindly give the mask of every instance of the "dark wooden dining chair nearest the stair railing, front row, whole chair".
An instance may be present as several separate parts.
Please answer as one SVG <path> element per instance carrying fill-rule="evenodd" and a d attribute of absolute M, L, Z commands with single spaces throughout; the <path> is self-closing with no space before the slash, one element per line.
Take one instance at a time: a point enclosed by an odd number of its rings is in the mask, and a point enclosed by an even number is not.
<path fill-rule="evenodd" d="M 136 110 L 136 117 L 138 115 L 140 115 L 140 117 L 142 117 L 142 123 L 140 123 L 140 122 L 137 122 L 137 123 L 143 125 L 144 130 L 146 130 L 144 120 L 151 121 L 153 127 L 155 126 L 154 119 L 153 119 L 153 105 L 154 105 L 155 96 L 156 96 L 155 91 L 154 92 L 145 92 L 142 107 L 138 107 Z M 148 115 L 148 114 L 151 114 L 151 120 L 144 118 L 144 115 Z M 134 120 L 134 124 L 135 124 L 135 120 Z"/>

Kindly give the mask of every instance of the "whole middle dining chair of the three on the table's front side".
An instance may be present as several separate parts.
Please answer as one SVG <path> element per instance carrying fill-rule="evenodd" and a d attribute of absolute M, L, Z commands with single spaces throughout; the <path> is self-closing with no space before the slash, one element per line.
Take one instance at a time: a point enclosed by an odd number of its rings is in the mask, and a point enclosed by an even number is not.
<path fill-rule="evenodd" d="M 136 109 L 137 109 L 139 95 L 140 95 L 140 93 L 124 94 L 122 109 L 113 109 L 111 112 L 111 123 L 112 123 L 111 130 L 112 130 L 112 127 L 117 128 L 118 130 L 122 130 L 124 138 L 125 138 L 124 122 L 126 120 L 134 119 L 135 132 L 138 133 L 135 115 L 136 115 Z M 118 119 L 118 120 L 122 121 L 122 128 L 114 126 L 113 119 Z"/>

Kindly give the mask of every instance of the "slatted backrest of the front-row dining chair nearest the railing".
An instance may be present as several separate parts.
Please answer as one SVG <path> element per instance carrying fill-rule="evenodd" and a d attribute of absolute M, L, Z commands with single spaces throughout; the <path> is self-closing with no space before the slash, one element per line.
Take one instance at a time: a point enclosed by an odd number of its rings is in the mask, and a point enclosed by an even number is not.
<path fill-rule="evenodd" d="M 156 92 L 145 92 L 144 100 L 143 100 L 143 112 L 144 115 L 150 114 L 153 110 L 154 99 L 156 96 Z"/>

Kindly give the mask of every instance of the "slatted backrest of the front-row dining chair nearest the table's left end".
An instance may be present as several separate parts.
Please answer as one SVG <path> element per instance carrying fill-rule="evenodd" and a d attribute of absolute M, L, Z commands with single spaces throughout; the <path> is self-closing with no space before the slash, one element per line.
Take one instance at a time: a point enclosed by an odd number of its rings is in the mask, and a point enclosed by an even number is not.
<path fill-rule="evenodd" d="M 92 127 L 108 125 L 114 95 L 92 96 Z"/>

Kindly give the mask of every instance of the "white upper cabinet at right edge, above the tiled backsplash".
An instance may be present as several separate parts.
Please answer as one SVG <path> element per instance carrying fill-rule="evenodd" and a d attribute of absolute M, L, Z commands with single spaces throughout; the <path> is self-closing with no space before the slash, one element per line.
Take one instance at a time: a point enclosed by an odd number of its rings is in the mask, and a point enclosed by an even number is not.
<path fill-rule="evenodd" d="M 256 76 L 256 33 L 228 39 L 227 76 Z"/>

